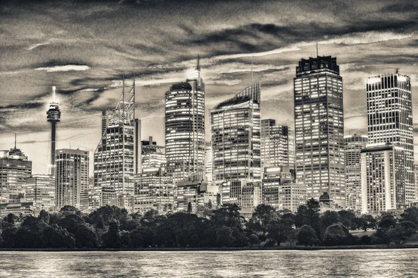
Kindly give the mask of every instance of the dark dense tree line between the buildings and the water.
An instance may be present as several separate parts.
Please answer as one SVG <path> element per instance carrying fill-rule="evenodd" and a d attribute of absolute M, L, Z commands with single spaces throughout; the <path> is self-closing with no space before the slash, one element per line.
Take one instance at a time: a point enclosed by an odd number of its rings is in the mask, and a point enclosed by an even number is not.
<path fill-rule="evenodd" d="M 191 211 L 191 210 L 190 210 Z M 90 214 L 65 206 L 59 213 L 41 211 L 38 218 L 9 214 L 0 222 L 3 248 L 148 248 L 148 247 L 272 247 L 287 245 L 402 244 L 417 232 L 418 208 L 380 218 L 352 211 L 326 211 L 314 199 L 296 213 L 260 204 L 251 218 L 236 204 L 193 213 L 157 211 L 127 213 L 102 206 Z M 350 230 L 376 229 L 357 237 Z"/>

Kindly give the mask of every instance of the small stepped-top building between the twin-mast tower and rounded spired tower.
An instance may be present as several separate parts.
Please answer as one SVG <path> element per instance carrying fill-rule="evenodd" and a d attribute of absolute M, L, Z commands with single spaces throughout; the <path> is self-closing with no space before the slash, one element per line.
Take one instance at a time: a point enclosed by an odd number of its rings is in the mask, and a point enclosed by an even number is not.
<path fill-rule="evenodd" d="M 158 146 L 157 142 L 153 142 L 153 137 L 150 136 L 148 141 L 141 141 L 141 160 L 142 171 L 154 171 L 164 164 L 167 165 L 167 158 L 164 154 L 164 147 Z"/>

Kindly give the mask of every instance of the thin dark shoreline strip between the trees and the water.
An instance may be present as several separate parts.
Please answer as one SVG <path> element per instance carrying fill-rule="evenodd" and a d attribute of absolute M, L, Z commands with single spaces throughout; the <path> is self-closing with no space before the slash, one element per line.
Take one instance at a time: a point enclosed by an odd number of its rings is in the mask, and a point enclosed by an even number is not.
<path fill-rule="evenodd" d="M 318 251 L 318 250 L 383 250 L 418 249 L 418 245 L 341 245 L 341 246 L 283 246 L 283 247 L 189 247 L 189 248 L 0 248 L 0 252 L 199 252 L 199 251 Z"/>

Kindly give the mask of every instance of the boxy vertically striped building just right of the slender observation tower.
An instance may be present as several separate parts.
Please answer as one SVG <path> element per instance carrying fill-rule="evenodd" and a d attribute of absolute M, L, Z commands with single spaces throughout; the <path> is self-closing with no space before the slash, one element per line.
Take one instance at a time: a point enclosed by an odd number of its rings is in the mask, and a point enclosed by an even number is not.
<path fill-rule="evenodd" d="M 80 207 L 80 195 L 88 190 L 90 158 L 80 149 L 55 151 L 55 202 L 59 210 L 63 206 Z"/>

